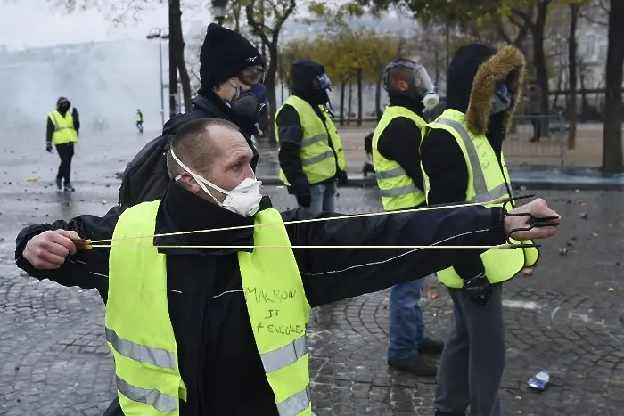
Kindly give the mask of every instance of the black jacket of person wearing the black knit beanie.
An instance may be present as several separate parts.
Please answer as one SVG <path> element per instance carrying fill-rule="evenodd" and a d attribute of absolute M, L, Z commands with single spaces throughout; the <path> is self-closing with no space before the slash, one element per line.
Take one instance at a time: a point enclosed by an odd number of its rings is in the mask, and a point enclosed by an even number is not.
<path fill-rule="evenodd" d="M 193 97 L 191 110 L 169 119 L 162 129 L 162 135 L 145 144 L 144 148 L 136 154 L 135 159 L 128 163 L 119 187 L 121 207 L 131 207 L 141 202 L 158 200 L 162 196 L 169 182 L 165 158 L 169 142 L 177 130 L 189 121 L 198 118 L 222 118 L 238 126 L 253 151 L 251 167 L 256 169 L 259 153 L 251 141 L 251 135 L 257 133 L 256 127 L 248 118 L 235 114 L 217 94 L 206 91 Z"/>

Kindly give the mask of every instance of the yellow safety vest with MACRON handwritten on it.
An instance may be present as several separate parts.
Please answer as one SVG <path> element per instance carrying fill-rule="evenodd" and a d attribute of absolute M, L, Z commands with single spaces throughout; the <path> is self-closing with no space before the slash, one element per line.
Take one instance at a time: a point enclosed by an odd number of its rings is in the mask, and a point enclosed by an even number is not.
<path fill-rule="evenodd" d="M 167 302 L 167 257 L 150 244 L 124 249 L 127 240 L 153 235 L 160 200 L 119 217 L 109 259 L 106 340 L 115 359 L 119 403 L 127 415 L 179 415 L 186 387 Z M 274 208 L 255 224 L 282 224 Z M 290 246 L 285 227 L 258 227 L 259 246 Z M 147 242 L 147 241 L 144 241 Z M 310 416 L 306 325 L 308 300 L 292 249 L 239 252 L 242 289 L 256 345 L 280 415 Z M 244 375 L 242 375 L 244 377 Z M 233 386 L 233 388 L 235 388 Z"/>

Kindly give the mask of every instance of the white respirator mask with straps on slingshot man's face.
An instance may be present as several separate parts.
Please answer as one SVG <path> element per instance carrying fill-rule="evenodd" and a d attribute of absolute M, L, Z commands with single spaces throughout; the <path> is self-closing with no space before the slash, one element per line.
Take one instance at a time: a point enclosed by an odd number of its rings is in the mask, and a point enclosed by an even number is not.
<path fill-rule="evenodd" d="M 176 160 L 177 164 L 185 169 L 188 174 L 193 176 L 193 179 L 201 186 L 203 192 L 208 193 L 219 207 L 226 208 L 228 211 L 232 211 L 240 216 L 254 216 L 258 212 L 260 200 L 262 200 L 262 194 L 260 193 L 260 185 L 262 183 L 256 178 L 245 178 L 232 191 L 226 191 L 219 188 L 216 184 L 212 184 L 208 179 L 201 177 L 201 175 L 194 173 L 189 167 L 182 163 L 180 159 L 177 159 L 173 149 L 171 149 L 171 157 Z M 179 181 L 181 176 L 182 175 L 177 175 L 174 180 L 176 182 Z M 210 193 L 206 185 L 218 192 L 224 193 L 226 199 L 220 202 Z"/>

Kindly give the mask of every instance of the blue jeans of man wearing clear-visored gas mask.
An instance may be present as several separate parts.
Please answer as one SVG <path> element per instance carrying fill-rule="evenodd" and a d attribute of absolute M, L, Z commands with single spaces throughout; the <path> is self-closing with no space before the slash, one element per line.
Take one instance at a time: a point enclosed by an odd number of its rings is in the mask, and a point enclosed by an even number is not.
<path fill-rule="evenodd" d="M 424 339 L 423 309 L 420 306 L 424 278 L 407 281 L 390 289 L 389 360 L 405 360 L 418 354 Z"/>

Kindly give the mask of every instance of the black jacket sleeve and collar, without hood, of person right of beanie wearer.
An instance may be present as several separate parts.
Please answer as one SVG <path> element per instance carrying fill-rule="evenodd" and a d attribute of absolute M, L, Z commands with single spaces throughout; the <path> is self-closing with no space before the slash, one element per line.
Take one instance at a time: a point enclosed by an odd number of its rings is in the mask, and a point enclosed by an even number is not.
<path fill-rule="evenodd" d="M 319 110 L 319 104 L 315 104 L 314 100 L 308 97 L 308 94 L 293 92 L 293 95 L 307 101 L 314 109 L 318 118 L 324 120 L 326 117 L 329 117 Z M 283 174 L 286 175 L 286 179 L 288 179 L 288 183 L 291 184 L 291 186 L 288 187 L 288 192 L 299 193 L 303 190 L 307 190 L 309 187 L 308 177 L 303 172 L 303 165 L 300 157 L 303 128 L 301 128 L 301 119 L 297 110 L 289 104 L 283 105 L 275 118 L 275 124 L 277 125 L 277 137 L 279 137 L 280 144 L 277 159 L 280 162 Z M 327 135 L 329 135 L 329 132 L 327 132 Z M 329 146 L 333 149 L 332 141 L 328 140 L 328 142 Z M 336 159 L 336 175 L 338 175 L 338 170 L 338 160 Z M 320 182 L 319 184 L 334 182 L 335 177 L 334 175 L 334 177 Z"/>

